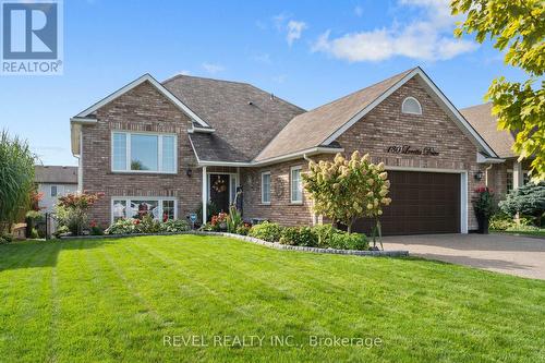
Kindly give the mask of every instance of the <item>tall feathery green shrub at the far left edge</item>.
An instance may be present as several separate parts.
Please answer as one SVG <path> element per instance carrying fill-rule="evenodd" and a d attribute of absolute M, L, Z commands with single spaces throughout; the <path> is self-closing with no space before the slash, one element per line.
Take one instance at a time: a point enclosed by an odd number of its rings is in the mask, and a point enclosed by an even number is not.
<path fill-rule="evenodd" d="M 34 164 L 36 157 L 28 143 L 10 137 L 7 131 L 0 135 L 0 233 L 9 230 L 17 218 L 24 216 L 34 190 Z"/>

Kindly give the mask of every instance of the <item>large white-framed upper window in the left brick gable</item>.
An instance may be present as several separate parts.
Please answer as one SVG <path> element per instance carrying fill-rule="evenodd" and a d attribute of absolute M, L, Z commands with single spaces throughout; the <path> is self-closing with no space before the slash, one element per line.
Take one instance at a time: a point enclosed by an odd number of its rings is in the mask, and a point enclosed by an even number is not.
<path fill-rule="evenodd" d="M 174 173 L 175 136 L 149 133 L 112 134 L 112 170 Z"/>

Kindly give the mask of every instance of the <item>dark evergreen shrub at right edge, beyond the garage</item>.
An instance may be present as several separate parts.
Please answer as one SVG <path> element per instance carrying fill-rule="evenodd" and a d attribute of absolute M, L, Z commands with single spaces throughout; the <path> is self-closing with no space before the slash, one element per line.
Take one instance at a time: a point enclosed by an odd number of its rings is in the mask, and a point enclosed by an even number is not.
<path fill-rule="evenodd" d="M 541 227 L 545 214 L 545 183 L 528 183 L 507 194 L 498 206 L 511 217 L 516 214 L 535 217 L 536 225 Z"/>

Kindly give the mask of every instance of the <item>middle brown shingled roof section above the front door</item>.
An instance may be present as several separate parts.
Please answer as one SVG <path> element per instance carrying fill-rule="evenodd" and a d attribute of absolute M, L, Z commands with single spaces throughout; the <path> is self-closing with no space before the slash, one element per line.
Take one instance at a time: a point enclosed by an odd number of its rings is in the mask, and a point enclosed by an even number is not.
<path fill-rule="evenodd" d="M 250 162 L 305 111 L 247 83 L 177 75 L 162 85 L 215 130 L 190 134 L 201 161 Z"/>

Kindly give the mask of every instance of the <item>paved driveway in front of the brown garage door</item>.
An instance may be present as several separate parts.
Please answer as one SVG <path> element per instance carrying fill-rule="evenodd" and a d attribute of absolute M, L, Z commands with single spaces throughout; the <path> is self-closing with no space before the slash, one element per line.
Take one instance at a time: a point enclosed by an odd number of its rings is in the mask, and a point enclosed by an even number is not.
<path fill-rule="evenodd" d="M 545 239 L 506 234 L 428 234 L 383 238 L 385 250 L 491 271 L 545 280 Z"/>

